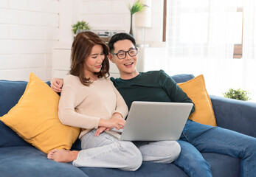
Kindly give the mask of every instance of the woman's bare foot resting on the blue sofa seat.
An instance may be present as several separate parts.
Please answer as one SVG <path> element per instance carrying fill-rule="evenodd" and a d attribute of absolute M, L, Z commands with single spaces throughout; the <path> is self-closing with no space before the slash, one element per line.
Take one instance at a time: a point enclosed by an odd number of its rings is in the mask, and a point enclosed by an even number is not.
<path fill-rule="evenodd" d="M 77 150 L 51 150 L 47 158 L 56 162 L 72 162 L 77 159 L 79 151 Z"/>

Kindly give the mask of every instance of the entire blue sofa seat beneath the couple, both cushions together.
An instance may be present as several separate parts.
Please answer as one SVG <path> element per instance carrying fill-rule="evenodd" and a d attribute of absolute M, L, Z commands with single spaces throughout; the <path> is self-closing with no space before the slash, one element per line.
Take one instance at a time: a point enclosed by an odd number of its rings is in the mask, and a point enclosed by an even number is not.
<path fill-rule="evenodd" d="M 217 153 L 202 153 L 209 162 L 213 176 L 238 177 L 240 174 L 240 159 Z M 72 164 L 59 163 L 46 158 L 46 154 L 35 147 L 1 147 L 0 148 L 0 174 L 9 176 L 111 176 L 111 177 L 187 177 L 175 164 L 159 164 L 143 162 L 136 172 L 123 171 L 100 167 L 73 167 Z"/>

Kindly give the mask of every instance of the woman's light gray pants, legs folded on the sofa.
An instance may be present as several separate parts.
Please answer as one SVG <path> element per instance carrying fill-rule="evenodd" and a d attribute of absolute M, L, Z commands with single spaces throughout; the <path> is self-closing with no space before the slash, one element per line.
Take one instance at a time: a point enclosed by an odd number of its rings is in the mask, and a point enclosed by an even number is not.
<path fill-rule="evenodd" d="M 171 163 L 181 151 L 176 141 L 127 142 L 103 132 L 95 136 L 95 129 L 82 139 L 82 150 L 73 162 L 76 167 L 110 167 L 137 170 L 142 161 Z M 135 144 L 135 145 L 134 145 Z"/>

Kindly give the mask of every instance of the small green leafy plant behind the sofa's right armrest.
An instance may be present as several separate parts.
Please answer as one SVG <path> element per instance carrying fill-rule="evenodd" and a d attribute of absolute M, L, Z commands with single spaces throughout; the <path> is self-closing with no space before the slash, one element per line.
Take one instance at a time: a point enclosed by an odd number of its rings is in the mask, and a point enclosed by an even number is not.
<path fill-rule="evenodd" d="M 249 91 L 246 90 L 241 90 L 241 89 L 229 89 L 229 91 L 226 91 L 224 94 L 224 97 L 227 98 L 232 98 L 236 100 L 243 100 L 243 101 L 248 101 L 251 100 L 249 97 Z"/>

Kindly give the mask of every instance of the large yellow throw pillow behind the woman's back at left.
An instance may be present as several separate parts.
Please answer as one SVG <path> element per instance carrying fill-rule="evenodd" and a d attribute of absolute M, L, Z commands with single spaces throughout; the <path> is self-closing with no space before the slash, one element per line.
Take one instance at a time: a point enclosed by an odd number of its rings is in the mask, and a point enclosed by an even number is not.
<path fill-rule="evenodd" d="M 44 153 L 53 149 L 69 150 L 80 128 L 61 124 L 58 119 L 59 99 L 44 81 L 30 73 L 30 81 L 21 99 L 0 119 Z"/>

